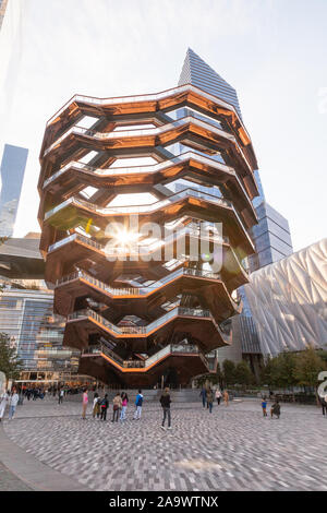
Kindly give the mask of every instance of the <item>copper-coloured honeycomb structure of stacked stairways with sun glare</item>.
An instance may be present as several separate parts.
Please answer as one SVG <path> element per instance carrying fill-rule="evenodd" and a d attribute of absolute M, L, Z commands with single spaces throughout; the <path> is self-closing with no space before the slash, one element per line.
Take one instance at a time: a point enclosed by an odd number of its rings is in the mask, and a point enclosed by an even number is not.
<path fill-rule="evenodd" d="M 175 119 L 181 108 L 187 116 Z M 178 155 L 179 144 L 187 151 Z M 126 386 L 208 372 L 205 355 L 230 343 L 221 323 L 240 311 L 232 291 L 247 283 L 242 259 L 254 252 L 257 165 L 234 107 L 192 85 L 74 96 L 49 120 L 40 164 L 46 279 L 80 371 Z M 187 183 L 178 193 L 177 180 Z M 129 204 L 141 193 L 152 203 Z M 144 235 L 149 223 L 159 237 Z M 210 251 L 219 244 L 218 270 L 202 254 L 202 228 Z"/>

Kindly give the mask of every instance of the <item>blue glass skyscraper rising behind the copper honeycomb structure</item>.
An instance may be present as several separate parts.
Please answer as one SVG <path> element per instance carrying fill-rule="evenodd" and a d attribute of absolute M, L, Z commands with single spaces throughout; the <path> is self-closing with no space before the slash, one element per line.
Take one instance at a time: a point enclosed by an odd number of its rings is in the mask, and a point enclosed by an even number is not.
<path fill-rule="evenodd" d="M 191 48 L 187 49 L 179 80 L 179 85 L 182 84 L 193 84 L 225 99 L 234 107 L 240 118 L 242 117 L 237 91 Z M 184 108 L 178 112 L 177 117 L 185 115 L 187 115 L 187 110 Z M 203 119 L 199 112 L 196 112 L 196 116 Z M 179 145 L 175 151 L 182 151 L 182 145 Z M 220 155 L 215 155 L 211 158 L 219 160 Z M 256 211 L 258 224 L 250 229 L 256 249 L 256 252 L 246 259 L 246 266 L 250 272 L 277 262 L 293 251 L 288 220 L 266 202 L 257 169 L 255 169 L 254 176 L 258 187 L 258 195 L 253 199 L 252 203 Z M 177 183 L 174 187 L 180 190 L 183 184 Z M 202 189 L 201 186 L 199 189 Z M 217 189 L 213 189 L 210 193 L 219 195 Z M 259 337 L 243 287 L 240 287 L 238 293 L 243 303 L 243 310 L 240 315 L 232 319 L 233 342 L 231 346 L 219 349 L 218 358 L 219 361 L 231 359 L 237 362 L 245 357 L 255 370 L 257 368 L 255 363 L 259 360 L 262 354 Z"/>

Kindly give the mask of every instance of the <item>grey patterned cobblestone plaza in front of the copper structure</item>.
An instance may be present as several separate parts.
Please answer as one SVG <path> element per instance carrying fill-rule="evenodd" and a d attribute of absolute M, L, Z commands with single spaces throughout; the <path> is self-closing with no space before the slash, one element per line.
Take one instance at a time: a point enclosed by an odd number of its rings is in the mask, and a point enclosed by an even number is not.
<path fill-rule="evenodd" d="M 201 404 L 175 404 L 171 431 L 160 429 L 156 404 L 144 405 L 140 421 L 133 409 L 112 425 L 82 420 L 80 404 L 49 399 L 24 404 L 4 430 L 94 490 L 327 491 L 327 418 L 315 406 L 282 404 L 271 420 L 258 401 L 215 406 L 211 415 Z"/>

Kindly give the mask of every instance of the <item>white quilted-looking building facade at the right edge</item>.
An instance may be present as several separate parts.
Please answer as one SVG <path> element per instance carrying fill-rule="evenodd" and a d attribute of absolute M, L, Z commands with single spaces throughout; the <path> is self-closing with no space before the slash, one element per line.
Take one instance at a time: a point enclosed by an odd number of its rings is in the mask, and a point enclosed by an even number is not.
<path fill-rule="evenodd" d="M 327 239 L 255 271 L 244 289 L 265 356 L 327 349 Z"/>

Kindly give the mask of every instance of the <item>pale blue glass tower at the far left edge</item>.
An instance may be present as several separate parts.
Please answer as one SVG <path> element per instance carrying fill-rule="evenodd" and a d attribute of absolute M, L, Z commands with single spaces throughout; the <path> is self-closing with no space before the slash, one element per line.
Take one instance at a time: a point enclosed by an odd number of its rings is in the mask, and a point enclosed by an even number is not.
<path fill-rule="evenodd" d="M 0 237 L 14 231 L 28 150 L 5 144 L 1 160 Z"/>

